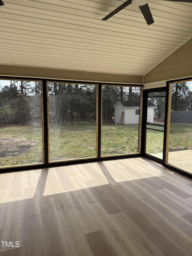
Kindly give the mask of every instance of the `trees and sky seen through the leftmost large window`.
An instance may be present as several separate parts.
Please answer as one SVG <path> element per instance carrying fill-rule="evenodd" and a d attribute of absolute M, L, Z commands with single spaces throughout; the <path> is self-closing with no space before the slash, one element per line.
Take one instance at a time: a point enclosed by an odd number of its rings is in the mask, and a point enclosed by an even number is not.
<path fill-rule="evenodd" d="M 41 122 L 41 82 L 0 81 L 0 125 Z"/>

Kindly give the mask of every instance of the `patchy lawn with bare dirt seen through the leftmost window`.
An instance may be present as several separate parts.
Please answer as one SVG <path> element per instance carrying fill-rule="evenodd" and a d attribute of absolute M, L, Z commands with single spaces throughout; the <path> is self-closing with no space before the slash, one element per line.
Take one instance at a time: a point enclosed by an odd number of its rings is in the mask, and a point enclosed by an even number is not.
<path fill-rule="evenodd" d="M 5 157 L 2 157 L 2 155 Z M 42 127 L 10 126 L 0 128 L 0 166 L 41 163 Z"/>

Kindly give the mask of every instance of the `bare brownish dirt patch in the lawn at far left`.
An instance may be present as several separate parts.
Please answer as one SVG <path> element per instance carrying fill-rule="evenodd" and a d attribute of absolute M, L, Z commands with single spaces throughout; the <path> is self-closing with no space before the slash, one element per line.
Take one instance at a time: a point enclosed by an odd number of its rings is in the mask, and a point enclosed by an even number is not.
<path fill-rule="evenodd" d="M 37 141 L 12 136 L 0 136 L 0 158 L 27 153 L 35 148 Z"/>

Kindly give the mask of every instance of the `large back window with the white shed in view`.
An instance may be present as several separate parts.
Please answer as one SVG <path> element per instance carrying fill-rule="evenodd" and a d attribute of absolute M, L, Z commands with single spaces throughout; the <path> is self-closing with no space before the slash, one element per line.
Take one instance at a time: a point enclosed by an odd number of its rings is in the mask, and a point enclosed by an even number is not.
<path fill-rule="evenodd" d="M 102 89 L 101 155 L 137 153 L 140 88 L 103 86 Z"/>

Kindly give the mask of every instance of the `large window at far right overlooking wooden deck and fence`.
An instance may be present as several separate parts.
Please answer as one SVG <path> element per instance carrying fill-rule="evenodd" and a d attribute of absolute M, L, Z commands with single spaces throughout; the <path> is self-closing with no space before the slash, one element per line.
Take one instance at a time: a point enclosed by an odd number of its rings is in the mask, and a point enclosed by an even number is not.
<path fill-rule="evenodd" d="M 192 81 L 170 85 L 168 164 L 192 173 Z"/>

